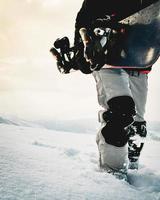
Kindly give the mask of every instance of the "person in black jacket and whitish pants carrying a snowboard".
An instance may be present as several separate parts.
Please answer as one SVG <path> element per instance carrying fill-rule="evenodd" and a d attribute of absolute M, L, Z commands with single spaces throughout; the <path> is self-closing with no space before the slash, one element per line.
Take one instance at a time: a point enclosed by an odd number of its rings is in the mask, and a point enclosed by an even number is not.
<path fill-rule="evenodd" d="M 160 1 L 84 0 L 76 17 L 75 46 L 78 46 L 82 40 L 79 30 L 86 28 L 91 32 L 93 22 L 97 19 L 110 16 L 111 26 L 112 23 L 120 22 L 123 28 L 120 29 L 120 33 L 117 33 L 118 35 L 125 32 L 125 27 L 130 28 L 137 24 L 147 28 L 159 14 Z M 139 38 L 139 41 L 141 39 Z M 96 139 L 100 167 L 108 171 L 138 169 L 140 154 L 147 135 L 144 114 L 148 73 L 152 66 L 145 69 L 131 69 L 130 65 L 119 68 L 114 66 L 116 59 L 114 54 L 124 41 L 115 42 L 114 49 L 110 49 L 109 52 L 109 64 L 92 73 L 96 81 L 98 102 L 104 108 L 99 112 L 99 122 L 102 127 Z M 94 55 L 94 49 L 92 42 L 88 44 L 88 41 L 85 42 L 85 58 L 90 62 L 90 55 Z M 145 45 L 143 47 L 145 48 Z M 132 50 L 132 45 L 128 49 Z"/>

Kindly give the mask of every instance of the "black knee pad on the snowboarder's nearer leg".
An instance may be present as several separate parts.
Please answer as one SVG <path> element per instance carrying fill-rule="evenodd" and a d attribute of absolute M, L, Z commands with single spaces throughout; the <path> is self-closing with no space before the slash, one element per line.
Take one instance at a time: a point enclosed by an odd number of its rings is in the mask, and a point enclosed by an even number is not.
<path fill-rule="evenodd" d="M 135 103 L 130 96 L 114 97 L 108 101 L 109 109 L 103 113 L 106 121 L 102 135 L 106 143 L 114 146 L 124 146 L 128 142 L 126 129 L 134 121 Z"/>

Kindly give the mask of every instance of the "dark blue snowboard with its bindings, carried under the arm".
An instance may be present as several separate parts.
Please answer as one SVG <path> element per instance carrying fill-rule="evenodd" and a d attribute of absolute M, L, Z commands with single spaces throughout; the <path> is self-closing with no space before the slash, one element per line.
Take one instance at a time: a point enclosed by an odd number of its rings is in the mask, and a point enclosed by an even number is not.
<path fill-rule="evenodd" d="M 54 45 L 50 51 L 53 55 L 56 52 L 58 69 L 63 73 L 69 73 L 71 69 L 91 73 L 105 64 L 105 67 L 145 69 L 152 66 L 160 55 L 159 15 L 160 0 L 153 1 L 151 5 L 117 19 L 117 23 L 114 19 L 113 25 L 111 17 L 96 20 L 92 37 L 87 29 L 80 29 L 82 42 L 78 51 L 77 47 L 64 48 L 63 38 L 62 42 L 58 39 L 62 44 Z M 86 43 L 91 44 L 94 51 L 89 61 L 84 58 Z"/>

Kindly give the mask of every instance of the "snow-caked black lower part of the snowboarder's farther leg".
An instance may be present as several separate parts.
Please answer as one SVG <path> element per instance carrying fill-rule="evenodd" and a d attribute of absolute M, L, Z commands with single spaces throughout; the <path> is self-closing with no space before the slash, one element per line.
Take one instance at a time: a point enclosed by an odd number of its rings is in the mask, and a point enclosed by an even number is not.
<path fill-rule="evenodd" d="M 128 127 L 129 140 L 128 140 L 128 158 L 129 169 L 138 169 L 139 158 L 144 146 L 144 140 L 147 135 L 146 121 L 135 121 Z"/>

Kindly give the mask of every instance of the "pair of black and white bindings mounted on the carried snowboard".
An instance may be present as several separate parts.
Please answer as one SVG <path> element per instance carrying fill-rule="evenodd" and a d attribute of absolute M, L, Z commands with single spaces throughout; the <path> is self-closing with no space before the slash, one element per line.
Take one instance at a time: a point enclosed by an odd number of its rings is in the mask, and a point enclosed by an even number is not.
<path fill-rule="evenodd" d="M 82 41 L 78 47 L 70 47 L 68 37 L 58 38 L 50 52 L 56 58 L 57 68 L 60 73 L 67 74 L 73 70 L 80 70 L 82 73 L 89 74 L 95 70 L 100 70 L 105 64 L 105 54 L 107 53 L 107 42 L 111 29 L 109 28 L 95 28 L 94 39 L 88 35 L 85 28 L 80 29 Z M 85 40 L 84 40 L 85 38 Z M 86 45 L 85 41 L 88 40 Z M 84 46 L 92 46 L 93 54 L 85 55 Z M 89 53 L 89 51 L 88 51 Z M 89 57 L 89 60 L 86 59 Z"/>

